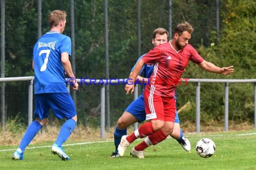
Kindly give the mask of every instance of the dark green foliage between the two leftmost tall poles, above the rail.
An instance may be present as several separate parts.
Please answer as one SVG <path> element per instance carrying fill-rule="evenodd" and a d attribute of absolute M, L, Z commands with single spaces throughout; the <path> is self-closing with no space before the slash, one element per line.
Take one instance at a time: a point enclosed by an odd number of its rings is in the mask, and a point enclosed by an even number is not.
<path fill-rule="evenodd" d="M 37 37 L 37 17 L 32 2 L 10 0 L 6 4 L 5 76 L 24 76 L 31 70 L 33 43 Z M 13 13 L 15 11 L 15 13 Z"/>

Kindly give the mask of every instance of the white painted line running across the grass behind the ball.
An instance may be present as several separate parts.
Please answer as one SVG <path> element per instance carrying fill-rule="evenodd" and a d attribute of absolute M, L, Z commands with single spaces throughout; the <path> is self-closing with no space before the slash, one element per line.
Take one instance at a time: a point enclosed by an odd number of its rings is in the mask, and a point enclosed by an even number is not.
<path fill-rule="evenodd" d="M 250 136 L 250 135 L 256 135 L 255 133 L 242 133 L 242 134 L 232 134 L 232 136 Z M 195 135 L 188 135 L 188 136 L 195 136 Z M 204 136 L 204 135 L 203 135 Z M 207 135 L 207 136 L 228 136 L 228 134 L 220 134 L 220 135 Z M 168 136 L 168 138 L 170 138 L 170 136 Z M 104 141 L 95 141 L 95 142 L 80 142 L 80 143 L 74 143 L 74 144 L 63 144 L 62 146 L 74 146 L 74 145 L 82 145 L 82 144 L 96 144 L 96 143 L 106 143 L 106 142 L 113 142 L 114 140 L 104 140 Z M 38 148 L 50 148 L 52 147 L 52 145 L 50 146 L 34 146 L 34 147 L 27 147 L 26 149 L 38 149 Z M 6 151 L 15 151 L 17 148 L 15 149 L 3 149 L 0 150 L 0 152 L 6 152 Z"/>

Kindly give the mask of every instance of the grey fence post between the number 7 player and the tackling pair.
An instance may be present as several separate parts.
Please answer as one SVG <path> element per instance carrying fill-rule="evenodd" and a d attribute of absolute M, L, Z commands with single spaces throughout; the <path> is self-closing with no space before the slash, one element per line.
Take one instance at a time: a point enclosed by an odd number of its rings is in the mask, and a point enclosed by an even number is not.
<path fill-rule="evenodd" d="M 105 85 L 101 89 L 101 138 L 105 138 Z"/>

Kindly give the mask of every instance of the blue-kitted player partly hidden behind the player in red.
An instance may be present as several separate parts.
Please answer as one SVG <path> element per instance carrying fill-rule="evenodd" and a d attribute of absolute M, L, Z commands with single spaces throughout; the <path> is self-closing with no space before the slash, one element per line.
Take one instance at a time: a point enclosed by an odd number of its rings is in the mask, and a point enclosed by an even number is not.
<path fill-rule="evenodd" d="M 152 38 L 152 44 L 154 45 L 154 47 L 162 43 L 166 43 L 167 41 L 168 41 L 167 30 L 163 28 L 158 28 L 154 30 L 153 38 Z M 141 57 L 138 59 L 138 61 L 141 59 Z M 134 67 L 132 68 L 132 71 L 133 69 Z M 138 76 L 137 79 L 139 79 L 143 83 L 147 83 L 148 81 L 147 78 L 151 76 L 153 69 L 154 69 L 153 65 L 145 64 L 141 69 L 141 72 L 144 72 L 144 77 Z M 118 145 L 120 144 L 122 136 L 127 134 L 127 127 L 136 122 L 141 123 L 146 119 L 143 92 L 144 92 L 144 88 L 142 89 L 141 95 L 126 108 L 123 115 L 118 119 L 117 126 L 115 127 L 115 132 L 114 132 L 115 152 L 113 152 L 110 155 L 111 157 L 119 157 L 117 148 L 118 148 Z M 176 99 L 176 96 L 175 96 L 175 99 Z M 190 151 L 191 149 L 190 141 L 186 139 L 182 134 L 182 130 L 180 128 L 180 120 L 177 112 L 176 112 L 173 132 L 170 134 L 170 136 L 176 139 L 186 151 Z"/>

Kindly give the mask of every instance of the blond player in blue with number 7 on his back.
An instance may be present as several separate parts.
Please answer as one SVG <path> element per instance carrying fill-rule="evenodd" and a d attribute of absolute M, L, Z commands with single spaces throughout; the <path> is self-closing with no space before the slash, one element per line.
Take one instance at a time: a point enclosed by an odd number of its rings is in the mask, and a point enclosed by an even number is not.
<path fill-rule="evenodd" d="M 65 76 L 73 77 L 69 82 L 73 89 L 78 89 L 69 57 L 71 39 L 63 35 L 66 25 L 66 12 L 55 10 L 49 15 L 50 31 L 39 38 L 33 51 L 32 68 L 35 71 L 35 121 L 26 130 L 18 149 L 13 153 L 14 160 L 24 159 L 24 150 L 37 132 L 48 122 L 51 108 L 58 119 L 65 118 L 57 140 L 51 148 L 63 161 L 70 157 L 62 149 L 62 144 L 71 135 L 77 122 L 74 102 L 67 91 Z"/>

